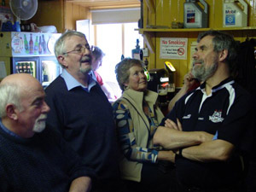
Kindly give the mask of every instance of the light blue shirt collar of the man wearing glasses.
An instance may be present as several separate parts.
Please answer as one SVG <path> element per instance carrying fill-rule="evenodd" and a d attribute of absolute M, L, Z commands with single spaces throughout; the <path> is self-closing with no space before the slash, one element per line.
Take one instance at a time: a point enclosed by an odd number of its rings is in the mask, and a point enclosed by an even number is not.
<path fill-rule="evenodd" d="M 92 79 L 90 75 L 88 75 L 88 87 L 85 87 L 83 84 L 80 84 L 77 79 L 74 79 L 73 76 L 68 73 L 66 69 L 63 69 L 63 72 L 61 73 L 61 78 L 65 80 L 67 90 L 72 90 L 73 88 L 80 86 L 83 88 L 83 90 L 90 92 L 90 89 L 94 85 L 96 85 L 96 81 Z"/>

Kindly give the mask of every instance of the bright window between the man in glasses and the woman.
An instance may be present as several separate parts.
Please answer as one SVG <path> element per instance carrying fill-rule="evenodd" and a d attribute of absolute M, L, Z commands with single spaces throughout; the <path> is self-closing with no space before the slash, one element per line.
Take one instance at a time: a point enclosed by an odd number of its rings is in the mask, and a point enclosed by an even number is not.
<path fill-rule="evenodd" d="M 137 39 L 140 47 L 143 48 L 143 37 L 135 31 L 135 28 L 137 28 L 137 22 L 95 26 L 95 45 L 105 53 L 102 67 L 97 72 L 102 76 L 104 84 L 113 88 L 117 97 L 121 96 L 121 90 L 114 73 L 116 64 L 121 61 L 122 55 L 131 57 L 131 50 L 135 49 Z"/>

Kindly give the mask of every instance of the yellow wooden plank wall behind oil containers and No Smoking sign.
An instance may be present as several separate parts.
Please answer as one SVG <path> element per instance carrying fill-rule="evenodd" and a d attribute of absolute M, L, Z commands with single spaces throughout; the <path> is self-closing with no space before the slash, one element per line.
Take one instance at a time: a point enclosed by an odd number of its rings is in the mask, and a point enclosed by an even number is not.
<path fill-rule="evenodd" d="M 150 10 L 147 3 L 152 3 L 153 10 Z M 209 28 L 208 29 L 221 29 L 222 28 L 222 3 L 223 0 L 206 0 L 209 5 Z M 256 37 L 256 0 L 246 0 L 248 10 L 248 26 L 253 30 L 233 30 L 227 31 L 234 35 L 236 40 L 244 41 L 246 38 Z M 140 32 L 145 36 L 147 35 L 154 47 L 154 52 L 151 52 L 148 57 L 149 69 L 150 68 L 164 68 L 165 61 L 171 61 L 177 69 L 175 83 L 177 87 L 183 85 L 183 76 L 188 73 L 190 66 L 190 44 L 196 41 L 200 31 L 196 29 L 185 31 L 173 31 L 172 29 L 158 31 L 152 29 L 147 31 L 147 25 L 155 26 L 168 26 L 171 28 L 172 21 L 183 22 L 183 3 L 185 0 L 143 0 L 144 3 L 144 22 L 143 29 Z M 188 55 L 187 60 L 174 60 L 174 59 L 161 59 L 160 58 L 160 38 L 188 38 Z"/>

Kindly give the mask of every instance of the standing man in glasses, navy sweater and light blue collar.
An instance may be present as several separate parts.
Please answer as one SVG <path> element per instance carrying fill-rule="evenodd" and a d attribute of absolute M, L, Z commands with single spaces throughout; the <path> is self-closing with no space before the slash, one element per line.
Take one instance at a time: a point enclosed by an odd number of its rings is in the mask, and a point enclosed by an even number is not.
<path fill-rule="evenodd" d="M 91 50 L 81 32 L 65 32 L 55 43 L 63 73 L 46 88 L 47 125 L 96 171 L 92 191 L 120 191 L 118 148 L 107 96 L 90 77 Z"/>

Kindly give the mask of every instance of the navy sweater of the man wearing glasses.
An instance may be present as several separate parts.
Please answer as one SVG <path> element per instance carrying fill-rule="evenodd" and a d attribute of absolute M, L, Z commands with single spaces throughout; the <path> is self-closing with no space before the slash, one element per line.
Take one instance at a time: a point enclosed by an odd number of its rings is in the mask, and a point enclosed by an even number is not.
<path fill-rule="evenodd" d="M 61 132 L 99 180 L 119 177 L 112 107 L 101 87 L 96 84 L 90 92 L 80 86 L 67 90 L 59 76 L 45 92 L 50 108 L 47 125 Z"/>

